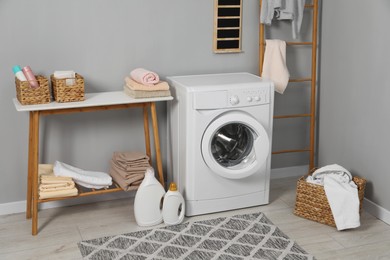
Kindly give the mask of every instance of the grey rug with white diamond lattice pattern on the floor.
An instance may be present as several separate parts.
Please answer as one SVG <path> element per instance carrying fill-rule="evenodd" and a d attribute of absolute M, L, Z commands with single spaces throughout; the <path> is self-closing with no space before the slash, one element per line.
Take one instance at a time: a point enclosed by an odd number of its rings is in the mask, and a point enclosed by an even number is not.
<path fill-rule="evenodd" d="M 78 246 L 83 259 L 315 259 L 263 213 L 188 221 Z"/>

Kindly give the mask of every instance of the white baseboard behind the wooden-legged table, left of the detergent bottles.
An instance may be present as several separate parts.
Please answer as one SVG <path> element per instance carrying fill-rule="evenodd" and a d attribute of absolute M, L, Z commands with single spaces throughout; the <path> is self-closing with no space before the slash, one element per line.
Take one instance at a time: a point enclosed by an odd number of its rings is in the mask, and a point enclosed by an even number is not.
<path fill-rule="evenodd" d="M 116 200 L 123 198 L 131 198 L 135 196 L 135 192 L 115 192 L 98 196 L 79 197 L 68 200 L 51 201 L 39 204 L 39 209 L 50 209 L 67 207 L 79 204 L 94 203 L 100 201 Z M 26 201 L 15 201 L 9 203 L 0 204 L 0 216 L 26 212 Z"/>

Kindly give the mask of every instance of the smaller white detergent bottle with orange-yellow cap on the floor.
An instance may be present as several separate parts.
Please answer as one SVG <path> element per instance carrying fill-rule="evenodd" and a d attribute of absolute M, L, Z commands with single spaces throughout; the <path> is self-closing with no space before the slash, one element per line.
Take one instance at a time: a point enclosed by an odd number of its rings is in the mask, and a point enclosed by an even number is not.
<path fill-rule="evenodd" d="M 163 219 L 167 225 L 180 224 L 184 219 L 184 198 L 177 190 L 176 183 L 169 185 L 169 190 L 164 196 Z"/>

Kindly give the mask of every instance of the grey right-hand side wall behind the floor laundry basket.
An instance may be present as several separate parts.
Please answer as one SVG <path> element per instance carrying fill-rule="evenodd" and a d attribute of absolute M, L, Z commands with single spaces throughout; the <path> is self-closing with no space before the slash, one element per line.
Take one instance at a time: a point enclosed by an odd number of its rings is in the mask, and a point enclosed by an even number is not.
<path fill-rule="evenodd" d="M 368 181 L 366 197 L 390 210 L 390 1 L 323 1 L 319 165 Z"/>

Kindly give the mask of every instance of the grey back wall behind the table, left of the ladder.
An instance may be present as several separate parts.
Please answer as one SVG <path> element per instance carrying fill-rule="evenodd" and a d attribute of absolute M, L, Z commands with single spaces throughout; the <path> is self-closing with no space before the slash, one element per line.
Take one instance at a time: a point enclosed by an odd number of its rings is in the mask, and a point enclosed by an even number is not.
<path fill-rule="evenodd" d="M 259 3 L 246 0 L 242 53 L 214 54 L 212 0 L 0 1 L 0 203 L 25 199 L 28 114 L 16 112 L 12 66 L 73 69 L 86 92 L 121 90 L 136 67 L 168 75 L 258 72 Z M 165 151 L 165 106 L 158 106 Z M 113 151 L 143 150 L 141 111 L 50 116 L 41 162 L 108 170 Z M 165 154 L 163 154 L 165 161 Z"/>

